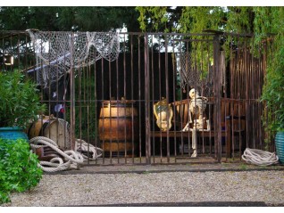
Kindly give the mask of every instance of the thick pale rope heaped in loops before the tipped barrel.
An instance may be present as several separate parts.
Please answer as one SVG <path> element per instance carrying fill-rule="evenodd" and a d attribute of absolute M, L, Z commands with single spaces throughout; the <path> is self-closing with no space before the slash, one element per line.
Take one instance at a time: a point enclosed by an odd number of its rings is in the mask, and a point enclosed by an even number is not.
<path fill-rule="evenodd" d="M 82 145 L 79 144 L 80 142 L 83 142 Z M 85 147 L 86 144 L 89 148 Z M 70 168 L 78 169 L 79 165 L 83 164 L 84 160 L 88 159 L 88 156 L 85 156 L 79 152 L 75 152 L 72 150 L 63 152 L 58 148 L 57 143 L 55 143 L 50 138 L 44 136 L 37 136 L 31 138 L 29 140 L 29 145 L 32 149 L 48 146 L 52 148 L 55 152 L 58 152 L 61 156 L 63 156 L 65 162 L 60 157 L 55 157 L 50 161 L 40 161 L 38 167 L 42 168 L 46 172 L 63 171 Z M 77 139 L 75 142 L 75 150 L 77 150 L 78 148 L 80 148 L 81 150 L 92 151 L 93 157 L 91 160 L 96 160 L 96 158 L 102 155 L 102 153 L 98 154 L 98 152 L 103 152 L 103 150 L 94 147 L 91 144 L 88 144 L 80 139 Z"/>

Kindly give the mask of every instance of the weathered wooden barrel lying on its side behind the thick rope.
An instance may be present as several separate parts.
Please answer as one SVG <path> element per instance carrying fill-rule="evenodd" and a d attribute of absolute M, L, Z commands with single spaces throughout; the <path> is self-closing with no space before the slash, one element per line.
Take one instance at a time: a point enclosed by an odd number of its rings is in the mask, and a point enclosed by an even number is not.
<path fill-rule="evenodd" d="M 63 151 L 71 149 L 70 130 L 68 123 L 63 119 L 42 116 L 29 127 L 28 136 L 29 139 L 36 136 L 45 136 L 57 143 L 58 147 Z"/>

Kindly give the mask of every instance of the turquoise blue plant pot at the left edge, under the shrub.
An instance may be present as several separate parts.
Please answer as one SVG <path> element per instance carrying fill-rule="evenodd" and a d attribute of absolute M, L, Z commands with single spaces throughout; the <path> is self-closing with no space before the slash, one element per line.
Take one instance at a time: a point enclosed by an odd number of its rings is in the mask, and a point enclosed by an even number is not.
<path fill-rule="evenodd" d="M 25 139 L 29 141 L 28 135 L 20 127 L 0 127 L 0 138 L 3 139 Z"/>

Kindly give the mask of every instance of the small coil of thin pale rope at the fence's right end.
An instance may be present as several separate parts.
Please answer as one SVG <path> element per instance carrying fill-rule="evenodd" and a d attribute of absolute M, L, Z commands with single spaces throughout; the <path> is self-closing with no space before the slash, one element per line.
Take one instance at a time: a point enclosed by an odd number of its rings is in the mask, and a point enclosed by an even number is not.
<path fill-rule="evenodd" d="M 265 152 L 249 148 L 246 148 L 242 155 L 242 160 L 257 166 L 270 166 L 279 163 L 279 158 L 275 152 Z"/>

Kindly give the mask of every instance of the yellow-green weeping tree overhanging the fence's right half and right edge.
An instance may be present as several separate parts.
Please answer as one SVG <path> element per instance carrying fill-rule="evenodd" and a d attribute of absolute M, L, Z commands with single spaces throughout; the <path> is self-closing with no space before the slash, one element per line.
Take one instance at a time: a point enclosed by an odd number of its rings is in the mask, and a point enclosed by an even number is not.
<path fill-rule="evenodd" d="M 201 33 L 205 29 L 254 34 L 252 49 L 273 41 L 268 55 L 262 100 L 271 109 L 267 130 L 284 130 L 284 8 L 283 7 L 137 7 L 140 29 Z M 272 37 L 271 37 L 272 36 Z"/>

